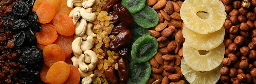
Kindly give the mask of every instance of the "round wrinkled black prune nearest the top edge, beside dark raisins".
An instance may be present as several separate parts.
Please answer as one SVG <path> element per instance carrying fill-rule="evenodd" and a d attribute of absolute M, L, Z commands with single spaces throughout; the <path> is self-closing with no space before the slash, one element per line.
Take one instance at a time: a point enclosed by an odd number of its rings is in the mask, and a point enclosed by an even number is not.
<path fill-rule="evenodd" d="M 12 7 L 12 12 L 18 16 L 26 16 L 29 13 L 29 6 L 23 2 L 16 2 Z"/>

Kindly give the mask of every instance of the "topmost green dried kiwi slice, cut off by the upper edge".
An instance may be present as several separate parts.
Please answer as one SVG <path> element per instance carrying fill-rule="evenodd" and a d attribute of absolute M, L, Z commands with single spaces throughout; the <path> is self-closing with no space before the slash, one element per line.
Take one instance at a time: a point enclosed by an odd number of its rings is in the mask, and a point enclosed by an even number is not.
<path fill-rule="evenodd" d="M 124 5 L 130 13 L 136 13 L 145 6 L 146 0 L 122 0 Z"/>

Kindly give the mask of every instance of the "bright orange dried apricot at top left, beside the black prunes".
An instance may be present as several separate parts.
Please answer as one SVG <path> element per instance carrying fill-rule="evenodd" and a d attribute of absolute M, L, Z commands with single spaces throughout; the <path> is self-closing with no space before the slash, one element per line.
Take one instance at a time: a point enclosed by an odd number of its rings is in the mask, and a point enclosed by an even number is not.
<path fill-rule="evenodd" d="M 49 23 L 55 15 L 55 8 L 52 2 L 48 0 L 36 0 L 32 8 L 38 16 L 38 22 Z"/>

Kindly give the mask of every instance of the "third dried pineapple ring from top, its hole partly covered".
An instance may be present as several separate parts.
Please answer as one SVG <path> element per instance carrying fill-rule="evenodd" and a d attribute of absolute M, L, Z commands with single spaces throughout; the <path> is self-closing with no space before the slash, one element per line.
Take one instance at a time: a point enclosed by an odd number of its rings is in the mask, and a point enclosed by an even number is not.
<path fill-rule="evenodd" d="M 190 47 L 186 41 L 183 44 L 183 58 L 187 65 L 193 70 L 210 71 L 221 64 L 225 54 L 224 43 L 221 43 L 212 50 L 205 51 Z"/>

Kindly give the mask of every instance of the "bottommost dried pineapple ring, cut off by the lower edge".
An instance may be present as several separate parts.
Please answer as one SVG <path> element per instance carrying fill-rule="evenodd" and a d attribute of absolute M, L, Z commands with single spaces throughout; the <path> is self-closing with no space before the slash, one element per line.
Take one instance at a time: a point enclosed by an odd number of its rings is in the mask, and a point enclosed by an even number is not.
<path fill-rule="evenodd" d="M 206 72 L 199 72 L 191 69 L 189 66 L 187 66 L 187 63 L 185 62 L 184 58 L 181 59 L 180 68 L 181 72 L 186 78 L 187 82 L 190 84 L 215 84 L 220 79 L 220 68 L 222 67 L 219 65 L 217 68 L 206 71 Z"/>

